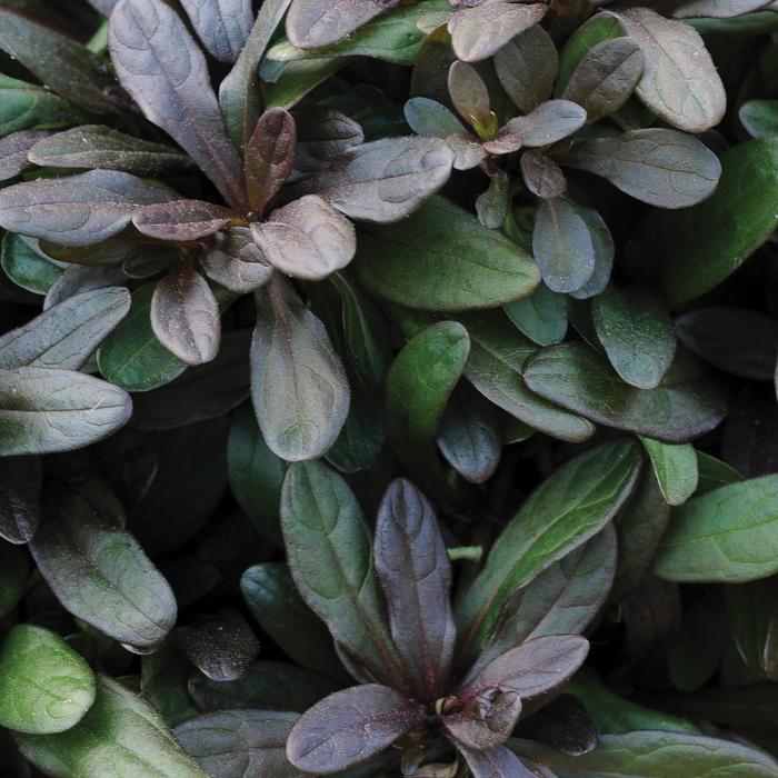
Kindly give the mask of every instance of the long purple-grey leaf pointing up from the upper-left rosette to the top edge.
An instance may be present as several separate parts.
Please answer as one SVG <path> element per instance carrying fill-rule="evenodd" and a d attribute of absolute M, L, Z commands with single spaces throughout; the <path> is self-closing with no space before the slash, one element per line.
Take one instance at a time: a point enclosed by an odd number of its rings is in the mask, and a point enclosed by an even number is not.
<path fill-rule="evenodd" d="M 240 157 L 208 63 L 180 17 L 161 0 L 120 0 L 109 43 L 117 76 L 147 119 L 189 153 L 232 207 L 248 210 Z"/>

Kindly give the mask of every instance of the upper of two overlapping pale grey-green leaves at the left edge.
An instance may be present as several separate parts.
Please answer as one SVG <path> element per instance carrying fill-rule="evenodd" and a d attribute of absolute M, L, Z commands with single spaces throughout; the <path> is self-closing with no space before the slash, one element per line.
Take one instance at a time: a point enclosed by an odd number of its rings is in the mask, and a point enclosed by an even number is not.
<path fill-rule="evenodd" d="M 124 287 L 74 295 L 0 337 L 0 368 L 80 370 L 129 310 Z"/>

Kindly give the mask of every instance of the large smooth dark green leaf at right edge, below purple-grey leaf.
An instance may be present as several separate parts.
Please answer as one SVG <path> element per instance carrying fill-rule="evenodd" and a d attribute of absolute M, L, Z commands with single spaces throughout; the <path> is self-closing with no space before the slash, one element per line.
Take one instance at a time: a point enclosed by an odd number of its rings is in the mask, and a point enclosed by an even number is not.
<path fill-rule="evenodd" d="M 641 256 L 662 262 L 670 307 L 704 295 L 772 235 L 778 211 L 778 141 L 754 140 L 721 154 L 721 179 L 705 202 L 678 213 L 652 211 L 640 223 Z"/>

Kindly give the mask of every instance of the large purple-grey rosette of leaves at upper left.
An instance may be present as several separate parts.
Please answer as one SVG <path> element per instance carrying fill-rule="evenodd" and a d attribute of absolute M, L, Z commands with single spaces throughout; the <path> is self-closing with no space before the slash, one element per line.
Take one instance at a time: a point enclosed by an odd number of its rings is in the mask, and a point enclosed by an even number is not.
<path fill-rule="evenodd" d="M 99 266 L 94 272 L 69 273 L 69 282 L 52 293 L 56 299 L 162 273 L 136 291 L 132 325 L 98 357 L 103 375 L 130 391 L 159 387 L 187 366 L 213 361 L 221 313 L 241 295 L 256 293 L 251 390 L 257 416 L 278 456 L 306 459 L 335 442 L 348 413 L 349 387 L 323 325 L 288 279 L 317 281 L 342 269 L 356 250 L 347 217 L 386 223 L 408 216 L 445 183 L 452 153 L 438 140 L 412 137 L 366 143 L 359 126 L 331 111 L 308 116 L 298 143 L 291 114 L 282 108 L 260 114 L 257 104 L 256 71 L 279 11 L 265 6 L 252 29 L 251 3 L 238 6 L 241 13 L 222 17 L 227 9 L 219 3 L 209 9 L 184 3 L 212 58 L 235 62 L 217 100 L 209 62 L 174 10 L 161 0 L 116 3 L 108 29 L 110 63 L 123 102 L 131 98 L 149 124 L 117 121 L 149 134 L 157 126 L 186 154 L 107 126 L 8 136 L 8 177 L 33 164 L 57 174 L 6 188 L 0 225 L 28 242 L 40 241 L 33 247 L 39 265 L 53 259 Z M 18 39 L 44 40 L 44 28 L 2 13 L 8 36 L 0 36 L 0 47 L 16 56 Z M 32 62 L 19 54 L 54 88 L 61 83 L 52 78 L 61 61 L 80 69 L 82 80 L 97 67 L 83 47 L 63 41 L 49 59 Z M 100 103 L 98 94 L 110 88 L 99 90 L 101 78 L 92 84 L 88 108 L 111 117 L 121 100 Z M 62 92 L 77 97 L 72 87 Z M 205 179 L 189 177 L 182 186 L 216 197 L 182 197 L 144 178 L 194 166 Z M 154 349 L 143 340 L 147 315 L 163 350 L 157 349 L 139 375 L 117 352 L 127 358 Z"/>

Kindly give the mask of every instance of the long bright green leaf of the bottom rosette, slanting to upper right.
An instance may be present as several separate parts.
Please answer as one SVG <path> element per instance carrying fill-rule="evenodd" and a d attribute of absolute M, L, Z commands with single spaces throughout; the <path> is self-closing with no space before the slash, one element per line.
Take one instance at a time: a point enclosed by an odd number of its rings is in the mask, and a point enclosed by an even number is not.
<path fill-rule="evenodd" d="M 460 646 L 482 647 L 516 589 L 597 535 L 631 495 L 639 468 L 635 443 L 621 440 L 585 451 L 543 481 L 458 599 Z"/>

